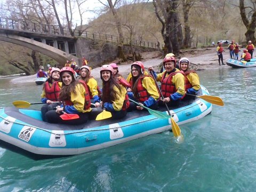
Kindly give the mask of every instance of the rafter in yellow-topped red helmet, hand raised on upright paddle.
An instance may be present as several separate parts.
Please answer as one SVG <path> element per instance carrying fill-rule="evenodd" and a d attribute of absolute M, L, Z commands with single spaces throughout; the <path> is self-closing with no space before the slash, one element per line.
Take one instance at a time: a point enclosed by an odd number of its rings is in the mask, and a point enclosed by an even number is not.
<path fill-rule="evenodd" d="M 161 82 L 161 92 L 164 96 L 163 100 L 159 101 L 159 105 L 163 106 L 167 103 L 168 106 L 178 106 L 181 99 L 185 97 L 185 77 L 176 67 L 174 57 L 166 57 L 163 60 L 165 71 L 157 74 L 152 67 L 149 70 L 153 71 L 156 81 Z"/>

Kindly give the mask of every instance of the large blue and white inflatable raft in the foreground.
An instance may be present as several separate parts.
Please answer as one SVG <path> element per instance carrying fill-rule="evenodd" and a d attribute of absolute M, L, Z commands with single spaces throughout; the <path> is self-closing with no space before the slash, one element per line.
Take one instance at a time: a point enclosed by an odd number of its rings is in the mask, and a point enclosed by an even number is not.
<path fill-rule="evenodd" d="M 178 108 L 170 108 L 177 124 L 196 121 L 210 114 L 212 103 L 223 106 L 220 98 L 221 101 L 207 102 L 207 97 L 214 96 L 209 95 L 203 85 L 201 87 L 198 95 L 182 101 Z M 165 107 L 159 107 L 158 113 L 168 115 Z M 0 140 L 33 154 L 76 155 L 170 130 L 171 118 L 168 117 L 163 119 L 148 111 L 132 111 L 122 119 L 63 125 L 43 122 L 41 111 L 6 107 L 0 109 Z"/>

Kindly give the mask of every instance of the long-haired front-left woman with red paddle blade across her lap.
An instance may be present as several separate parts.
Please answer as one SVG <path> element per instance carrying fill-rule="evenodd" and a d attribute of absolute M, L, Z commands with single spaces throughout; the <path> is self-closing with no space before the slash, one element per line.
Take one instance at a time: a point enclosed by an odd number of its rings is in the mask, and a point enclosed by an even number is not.
<path fill-rule="evenodd" d="M 56 110 L 47 111 L 46 122 L 69 125 L 86 123 L 92 108 L 85 83 L 76 81 L 75 71 L 71 67 L 63 67 L 60 70 L 60 82 L 62 82 L 62 86 L 59 100 L 62 104 L 57 106 Z M 63 120 L 60 117 L 63 113 L 77 114 L 79 118 Z"/>

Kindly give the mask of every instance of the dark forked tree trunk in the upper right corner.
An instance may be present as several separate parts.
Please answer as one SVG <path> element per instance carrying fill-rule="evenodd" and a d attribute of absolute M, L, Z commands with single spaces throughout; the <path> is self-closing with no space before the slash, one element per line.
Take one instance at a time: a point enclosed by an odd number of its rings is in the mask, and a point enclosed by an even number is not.
<path fill-rule="evenodd" d="M 245 6 L 244 0 L 239 0 L 239 9 L 243 23 L 247 29 L 245 33 L 246 41 L 252 41 L 255 43 L 256 2 L 252 0 L 251 6 Z M 247 13 L 246 9 L 249 10 Z M 251 21 L 249 21 L 249 18 L 251 18 Z"/>

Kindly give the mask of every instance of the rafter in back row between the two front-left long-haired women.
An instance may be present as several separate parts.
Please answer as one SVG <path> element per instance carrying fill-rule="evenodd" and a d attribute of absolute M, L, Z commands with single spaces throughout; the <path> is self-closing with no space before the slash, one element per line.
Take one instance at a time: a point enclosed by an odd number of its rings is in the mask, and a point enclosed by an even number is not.
<path fill-rule="evenodd" d="M 95 107 L 99 107 L 101 91 L 97 81 L 91 76 L 91 68 L 89 66 L 82 66 L 80 68 L 80 76 L 77 79 L 86 83 L 91 102 L 95 103 Z"/>

